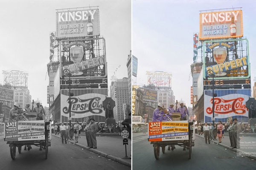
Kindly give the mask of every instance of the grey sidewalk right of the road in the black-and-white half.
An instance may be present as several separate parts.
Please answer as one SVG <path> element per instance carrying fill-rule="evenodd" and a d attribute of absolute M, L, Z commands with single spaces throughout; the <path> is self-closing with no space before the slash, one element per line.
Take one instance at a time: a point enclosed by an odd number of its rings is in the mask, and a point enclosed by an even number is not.
<path fill-rule="evenodd" d="M 61 134 L 52 136 L 56 136 L 61 138 Z M 97 140 L 97 149 L 89 149 L 87 146 L 86 136 L 80 135 L 81 138 L 78 139 L 78 143 L 75 143 L 74 140 L 67 140 L 70 143 L 76 144 L 79 147 L 89 150 L 90 152 L 97 153 L 101 156 L 104 156 L 113 161 L 117 161 L 121 164 L 124 164 L 128 167 L 131 167 L 131 159 L 122 159 L 125 157 L 125 145 L 123 145 L 123 138 L 121 136 L 96 136 Z M 61 144 L 61 140 L 60 140 Z M 131 140 L 128 139 L 128 145 L 126 145 L 127 156 L 130 158 L 131 156 Z"/>

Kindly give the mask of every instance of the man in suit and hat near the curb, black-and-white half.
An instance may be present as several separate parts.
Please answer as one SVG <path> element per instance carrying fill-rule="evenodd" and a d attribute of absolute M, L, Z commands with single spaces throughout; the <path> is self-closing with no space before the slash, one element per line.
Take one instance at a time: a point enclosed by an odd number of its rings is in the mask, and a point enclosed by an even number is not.
<path fill-rule="evenodd" d="M 89 148 L 97 149 L 96 133 L 98 132 L 98 125 L 95 123 L 95 119 L 90 119 L 90 126 L 88 128 L 89 136 Z"/>

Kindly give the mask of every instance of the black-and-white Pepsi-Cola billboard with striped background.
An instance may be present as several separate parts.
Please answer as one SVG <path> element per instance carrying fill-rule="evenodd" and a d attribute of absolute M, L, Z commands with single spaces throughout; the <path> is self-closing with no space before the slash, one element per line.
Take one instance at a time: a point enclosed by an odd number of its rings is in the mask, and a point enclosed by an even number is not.
<path fill-rule="evenodd" d="M 105 122 L 103 101 L 108 95 L 108 89 L 71 89 L 74 96 L 71 99 L 72 122 L 83 122 L 84 118 L 94 118 L 96 122 Z M 69 118 L 69 90 L 61 90 L 61 122 Z"/>

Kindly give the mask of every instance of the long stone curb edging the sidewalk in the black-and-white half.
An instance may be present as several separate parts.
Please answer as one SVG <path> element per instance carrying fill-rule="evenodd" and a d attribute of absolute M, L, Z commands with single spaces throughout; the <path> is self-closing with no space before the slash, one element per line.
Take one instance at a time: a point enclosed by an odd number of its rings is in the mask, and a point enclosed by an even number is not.
<path fill-rule="evenodd" d="M 52 135 L 52 136 L 55 136 L 55 135 Z M 59 136 L 55 136 L 55 137 L 61 139 L 61 137 L 59 137 Z M 86 146 L 84 146 L 84 145 L 82 145 L 82 144 L 79 144 L 79 143 L 75 143 L 75 142 L 70 141 L 70 140 L 67 140 L 67 141 L 70 142 L 70 143 L 72 143 L 72 144 L 75 144 L 75 145 L 77 145 L 77 146 L 79 146 L 79 147 L 81 147 L 81 148 L 84 148 L 84 149 L 86 149 L 86 150 L 89 150 L 90 152 L 96 153 L 96 154 L 98 154 L 98 155 L 100 155 L 100 156 L 104 156 L 104 157 L 107 158 L 107 159 L 111 159 L 112 161 L 116 161 L 116 162 L 118 162 L 118 163 L 120 163 L 120 164 L 123 164 L 123 165 L 126 165 L 126 166 L 128 166 L 128 167 L 131 167 L 131 163 L 126 162 L 126 161 L 124 161 L 123 159 L 121 159 L 121 158 L 119 158 L 119 157 L 110 155 L 110 154 L 108 154 L 108 153 L 104 153 L 104 152 L 102 152 L 102 151 L 100 151 L 100 150 L 97 150 L 97 149 L 90 149 L 89 147 L 86 147 Z"/>

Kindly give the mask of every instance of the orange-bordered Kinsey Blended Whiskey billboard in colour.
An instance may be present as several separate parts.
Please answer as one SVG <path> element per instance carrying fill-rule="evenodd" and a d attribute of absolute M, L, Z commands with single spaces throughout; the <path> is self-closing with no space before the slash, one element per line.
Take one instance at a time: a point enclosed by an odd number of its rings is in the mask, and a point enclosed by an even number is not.
<path fill-rule="evenodd" d="M 200 14 L 199 40 L 243 37 L 242 10 Z"/>

